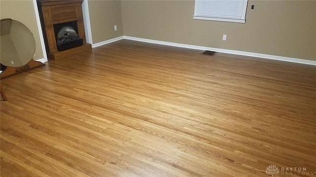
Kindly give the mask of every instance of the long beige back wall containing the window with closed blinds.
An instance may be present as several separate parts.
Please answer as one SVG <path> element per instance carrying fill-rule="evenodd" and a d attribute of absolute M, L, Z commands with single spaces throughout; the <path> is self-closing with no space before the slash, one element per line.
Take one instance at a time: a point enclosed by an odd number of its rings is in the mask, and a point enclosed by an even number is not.
<path fill-rule="evenodd" d="M 316 60 L 315 0 L 249 0 L 245 24 L 193 20 L 194 3 L 122 0 L 124 35 Z"/>

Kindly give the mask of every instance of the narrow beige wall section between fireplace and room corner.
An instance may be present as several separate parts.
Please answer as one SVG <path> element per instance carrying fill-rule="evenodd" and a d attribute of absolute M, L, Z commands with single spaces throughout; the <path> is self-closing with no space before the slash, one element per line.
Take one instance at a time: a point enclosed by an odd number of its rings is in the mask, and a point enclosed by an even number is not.
<path fill-rule="evenodd" d="M 123 35 L 120 0 L 88 0 L 88 6 L 93 44 Z"/>

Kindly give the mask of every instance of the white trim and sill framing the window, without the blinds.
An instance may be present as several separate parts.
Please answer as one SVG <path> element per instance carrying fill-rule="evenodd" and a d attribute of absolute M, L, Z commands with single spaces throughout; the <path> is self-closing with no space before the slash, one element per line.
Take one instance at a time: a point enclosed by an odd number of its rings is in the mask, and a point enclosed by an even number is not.
<path fill-rule="evenodd" d="M 201 16 L 197 15 L 197 3 L 198 0 L 195 0 L 195 8 L 194 8 L 194 15 L 193 19 L 195 20 L 210 20 L 210 21 L 220 21 L 220 22 L 234 22 L 234 23 L 245 23 L 246 22 L 246 10 L 247 10 L 247 3 L 248 0 L 243 0 L 243 9 L 242 9 L 242 18 L 216 18 L 211 16 Z"/>

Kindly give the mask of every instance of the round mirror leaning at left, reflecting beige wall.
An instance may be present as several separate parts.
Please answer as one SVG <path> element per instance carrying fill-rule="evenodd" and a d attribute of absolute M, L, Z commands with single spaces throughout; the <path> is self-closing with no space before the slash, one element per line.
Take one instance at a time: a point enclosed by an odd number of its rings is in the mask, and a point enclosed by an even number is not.
<path fill-rule="evenodd" d="M 35 39 L 22 23 L 12 19 L 0 20 L 0 62 L 5 66 L 21 67 L 35 55 Z"/>

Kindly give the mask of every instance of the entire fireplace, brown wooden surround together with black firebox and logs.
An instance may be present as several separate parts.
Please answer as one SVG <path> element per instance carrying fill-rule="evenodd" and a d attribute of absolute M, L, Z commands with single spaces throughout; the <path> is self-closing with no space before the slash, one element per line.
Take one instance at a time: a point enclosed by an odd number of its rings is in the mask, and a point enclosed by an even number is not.
<path fill-rule="evenodd" d="M 38 0 L 48 59 L 63 59 L 91 51 L 84 35 L 83 0 Z"/>

